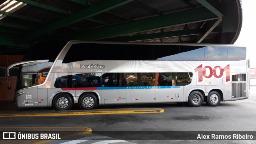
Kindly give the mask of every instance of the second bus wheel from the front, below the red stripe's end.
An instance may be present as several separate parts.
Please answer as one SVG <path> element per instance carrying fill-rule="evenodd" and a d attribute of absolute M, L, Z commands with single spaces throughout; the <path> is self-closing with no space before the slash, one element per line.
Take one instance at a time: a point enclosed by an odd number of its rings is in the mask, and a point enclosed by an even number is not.
<path fill-rule="evenodd" d="M 80 98 L 79 105 L 84 110 L 91 110 L 97 106 L 98 100 L 94 94 L 86 93 Z"/>

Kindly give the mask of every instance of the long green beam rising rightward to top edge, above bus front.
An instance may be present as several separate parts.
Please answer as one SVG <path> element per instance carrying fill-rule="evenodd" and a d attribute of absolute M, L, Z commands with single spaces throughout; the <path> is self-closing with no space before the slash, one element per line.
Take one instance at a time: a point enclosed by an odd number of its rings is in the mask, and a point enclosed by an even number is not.
<path fill-rule="evenodd" d="M 89 8 L 81 10 L 80 12 L 70 14 L 69 16 L 67 16 L 65 18 L 62 18 L 60 20 L 52 22 L 51 24 L 43 26 L 37 30 L 34 30 L 34 31 L 28 33 L 26 35 L 26 37 L 32 38 L 34 36 L 39 36 L 41 34 L 45 34 L 46 32 L 51 32 L 53 30 L 68 26 L 68 25 L 78 22 L 80 20 L 90 18 L 92 16 L 95 16 L 95 15 L 105 12 L 107 10 L 111 10 L 111 9 L 121 6 L 123 4 L 127 4 L 128 2 L 131 2 L 131 1 L 133 1 L 133 0 L 115 0 L 115 1 L 114 0 L 104 0 L 98 4 L 95 4 L 91 7 L 89 7 Z"/>

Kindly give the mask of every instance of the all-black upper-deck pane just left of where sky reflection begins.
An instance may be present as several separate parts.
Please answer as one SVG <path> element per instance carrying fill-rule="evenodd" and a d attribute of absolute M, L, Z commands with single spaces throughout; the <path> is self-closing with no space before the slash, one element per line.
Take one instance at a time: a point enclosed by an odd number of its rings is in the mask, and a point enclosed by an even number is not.
<path fill-rule="evenodd" d="M 128 44 L 127 60 L 154 60 L 154 46 Z"/>

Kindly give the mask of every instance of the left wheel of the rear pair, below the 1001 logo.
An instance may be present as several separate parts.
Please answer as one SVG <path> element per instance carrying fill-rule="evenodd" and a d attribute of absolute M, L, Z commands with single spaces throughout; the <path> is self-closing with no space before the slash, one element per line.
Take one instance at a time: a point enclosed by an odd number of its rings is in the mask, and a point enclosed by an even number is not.
<path fill-rule="evenodd" d="M 188 104 L 192 107 L 199 107 L 203 104 L 204 97 L 201 92 L 194 91 L 188 96 Z"/>

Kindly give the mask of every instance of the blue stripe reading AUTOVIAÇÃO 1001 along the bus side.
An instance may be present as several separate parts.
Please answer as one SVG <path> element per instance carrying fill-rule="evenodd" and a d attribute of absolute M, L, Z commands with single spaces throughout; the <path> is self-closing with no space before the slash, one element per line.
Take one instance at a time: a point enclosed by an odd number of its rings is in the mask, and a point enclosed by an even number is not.
<path fill-rule="evenodd" d="M 152 88 L 180 88 L 180 86 L 126 86 L 126 87 L 101 87 L 102 90 L 130 90 L 130 89 L 152 89 Z M 100 88 L 97 88 L 100 90 Z"/>

